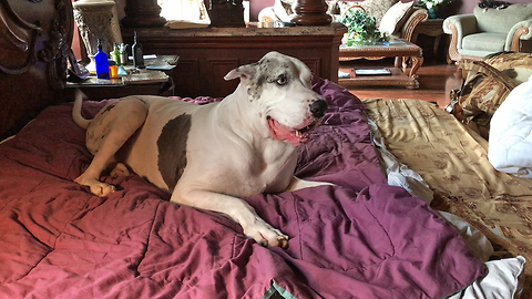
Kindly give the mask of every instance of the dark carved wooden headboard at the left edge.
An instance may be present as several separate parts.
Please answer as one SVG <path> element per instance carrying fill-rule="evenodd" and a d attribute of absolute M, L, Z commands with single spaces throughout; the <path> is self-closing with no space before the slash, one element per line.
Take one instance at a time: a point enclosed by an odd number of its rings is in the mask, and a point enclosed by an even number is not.
<path fill-rule="evenodd" d="M 71 0 L 0 0 L 0 140 L 61 102 Z"/>

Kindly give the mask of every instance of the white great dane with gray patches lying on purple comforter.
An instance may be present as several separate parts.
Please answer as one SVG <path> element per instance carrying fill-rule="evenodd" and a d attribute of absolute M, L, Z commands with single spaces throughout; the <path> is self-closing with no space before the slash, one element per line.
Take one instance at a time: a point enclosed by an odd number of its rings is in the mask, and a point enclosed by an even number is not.
<path fill-rule="evenodd" d="M 288 237 L 241 198 L 328 184 L 294 176 L 295 147 L 308 142 L 327 103 L 310 89 L 308 68 L 277 52 L 225 80 L 237 78 L 238 87 L 222 102 L 132 95 L 93 120 L 82 117 L 84 95 L 76 92 L 72 116 L 86 128 L 94 158 L 75 182 L 106 196 L 115 188 L 100 175 L 116 165 L 114 173 L 133 171 L 170 192 L 172 202 L 225 214 L 257 243 L 285 248 Z"/>

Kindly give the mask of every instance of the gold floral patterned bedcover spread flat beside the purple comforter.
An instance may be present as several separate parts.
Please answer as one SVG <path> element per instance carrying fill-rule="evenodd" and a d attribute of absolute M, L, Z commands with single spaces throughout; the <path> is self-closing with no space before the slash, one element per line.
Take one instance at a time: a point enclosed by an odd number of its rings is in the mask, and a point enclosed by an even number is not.
<path fill-rule="evenodd" d="M 495 171 L 488 161 L 488 142 L 437 105 L 419 100 L 362 102 L 387 150 L 433 190 L 433 208 L 480 229 L 499 257 L 529 260 L 522 298 L 532 298 L 532 179 Z"/>

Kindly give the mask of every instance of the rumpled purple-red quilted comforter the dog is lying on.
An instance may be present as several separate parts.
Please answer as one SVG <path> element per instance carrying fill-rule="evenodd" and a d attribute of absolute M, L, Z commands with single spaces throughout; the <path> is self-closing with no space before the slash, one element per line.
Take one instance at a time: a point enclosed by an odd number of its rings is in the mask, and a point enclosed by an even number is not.
<path fill-rule="evenodd" d="M 485 275 L 452 226 L 386 184 L 360 101 L 314 87 L 329 111 L 296 174 L 337 186 L 246 198 L 287 250 L 136 175 L 93 196 L 73 183 L 91 155 L 71 105 L 43 111 L 0 144 L 0 298 L 441 298 Z"/>

